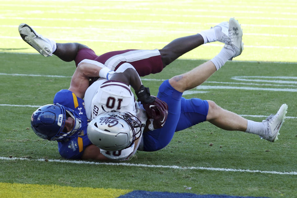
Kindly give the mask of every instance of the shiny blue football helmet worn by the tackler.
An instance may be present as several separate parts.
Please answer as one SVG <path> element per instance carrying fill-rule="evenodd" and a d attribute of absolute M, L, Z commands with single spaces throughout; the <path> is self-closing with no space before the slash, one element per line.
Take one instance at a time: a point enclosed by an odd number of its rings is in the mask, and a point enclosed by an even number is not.
<path fill-rule="evenodd" d="M 73 118 L 75 123 L 71 131 L 67 131 L 65 120 Z M 72 137 L 82 128 L 82 119 L 78 113 L 60 104 L 39 107 L 31 117 L 31 127 L 42 139 L 64 141 Z"/>

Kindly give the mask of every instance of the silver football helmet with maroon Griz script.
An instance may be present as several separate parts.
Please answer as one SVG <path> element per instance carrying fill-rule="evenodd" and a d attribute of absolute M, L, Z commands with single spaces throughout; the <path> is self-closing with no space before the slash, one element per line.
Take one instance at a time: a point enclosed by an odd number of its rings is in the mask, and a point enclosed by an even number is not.
<path fill-rule="evenodd" d="M 88 125 L 89 140 L 106 151 L 119 151 L 130 147 L 142 131 L 140 120 L 129 112 L 104 112 Z"/>

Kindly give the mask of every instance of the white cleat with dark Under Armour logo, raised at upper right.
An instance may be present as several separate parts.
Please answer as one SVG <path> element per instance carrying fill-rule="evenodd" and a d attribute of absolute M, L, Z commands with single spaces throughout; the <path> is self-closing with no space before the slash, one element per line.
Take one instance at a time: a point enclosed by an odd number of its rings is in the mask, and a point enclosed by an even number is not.
<path fill-rule="evenodd" d="M 229 60 L 232 60 L 234 57 L 239 56 L 243 51 L 243 42 L 242 42 L 242 28 L 238 23 L 238 20 L 234 18 L 229 19 L 229 35 L 228 43 L 224 46 L 227 49 L 233 49 L 235 54 Z"/>

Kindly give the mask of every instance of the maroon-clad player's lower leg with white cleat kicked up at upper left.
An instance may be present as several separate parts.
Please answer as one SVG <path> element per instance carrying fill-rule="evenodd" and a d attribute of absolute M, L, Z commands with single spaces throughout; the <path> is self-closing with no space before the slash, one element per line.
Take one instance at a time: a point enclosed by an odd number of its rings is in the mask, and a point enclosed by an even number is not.
<path fill-rule="evenodd" d="M 27 24 L 19 25 L 19 34 L 26 43 L 31 45 L 45 57 L 52 56 L 52 54 L 54 54 L 63 61 L 67 62 L 73 61 L 80 49 L 88 48 L 80 43 L 56 43 L 54 40 L 45 38 L 38 34 Z"/>

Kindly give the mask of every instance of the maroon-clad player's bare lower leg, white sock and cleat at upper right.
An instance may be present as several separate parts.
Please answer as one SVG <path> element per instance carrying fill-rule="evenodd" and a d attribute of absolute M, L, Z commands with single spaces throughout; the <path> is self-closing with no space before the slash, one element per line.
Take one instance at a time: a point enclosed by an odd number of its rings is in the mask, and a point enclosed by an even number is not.
<path fill-rule="evenodd" d="M 228 33 L 228 22 L 222 22 L 214 28 L 202 31 L 199 34 L 181 37 L 171 41 L 168 45 L 159 50 L 163 67 L 166 67 L 166 65 L 169 65 L 181 55 L 202 44 L 214 41 L 228 43 Z"/>

